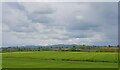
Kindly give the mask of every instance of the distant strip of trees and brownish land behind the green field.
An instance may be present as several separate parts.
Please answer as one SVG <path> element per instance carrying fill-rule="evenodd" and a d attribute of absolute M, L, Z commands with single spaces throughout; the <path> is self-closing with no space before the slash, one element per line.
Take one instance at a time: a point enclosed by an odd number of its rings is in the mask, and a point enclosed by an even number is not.
<path fill-rule="evenodd" d="M 22 52 L 22 51 L 81 51 L 81 52 L 118 52 L 118 46 L 73 46 L 73 47 L 2 47 L 1 52 Z"/>

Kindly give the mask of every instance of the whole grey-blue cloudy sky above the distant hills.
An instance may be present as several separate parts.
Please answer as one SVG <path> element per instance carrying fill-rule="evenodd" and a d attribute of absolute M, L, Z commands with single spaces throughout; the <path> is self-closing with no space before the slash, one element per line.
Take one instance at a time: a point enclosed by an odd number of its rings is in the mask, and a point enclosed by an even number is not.
<path fill-rule="evenodd" d="M 117 2 L 6 2 L 2 43 L 117 45 Z"/>

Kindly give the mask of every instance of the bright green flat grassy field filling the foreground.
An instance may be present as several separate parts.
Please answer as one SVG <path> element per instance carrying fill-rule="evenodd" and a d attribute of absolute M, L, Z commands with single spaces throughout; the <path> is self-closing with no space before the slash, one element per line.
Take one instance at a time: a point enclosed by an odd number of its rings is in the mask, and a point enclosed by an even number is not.
<path fill-rule="evenodd" d="M 9 52 L 3 68 L 117 68 L 117 53 L 110 52 Z"/>

